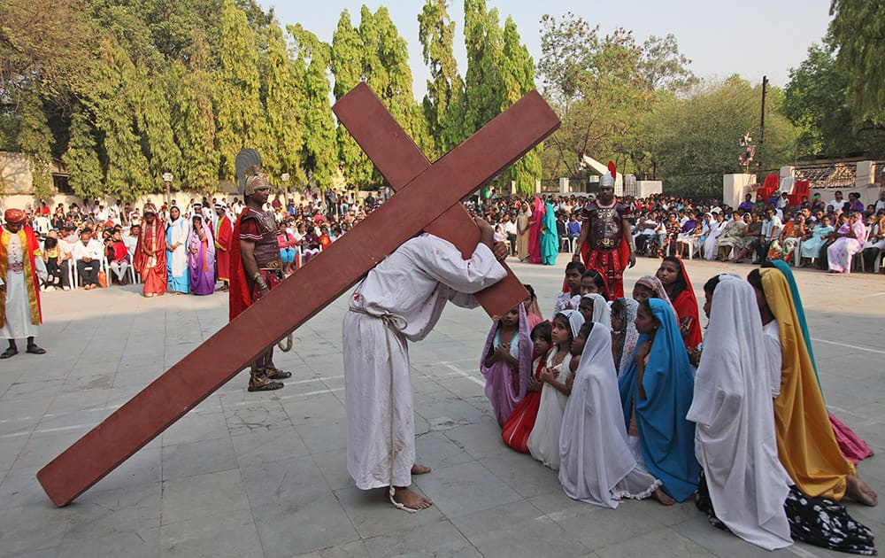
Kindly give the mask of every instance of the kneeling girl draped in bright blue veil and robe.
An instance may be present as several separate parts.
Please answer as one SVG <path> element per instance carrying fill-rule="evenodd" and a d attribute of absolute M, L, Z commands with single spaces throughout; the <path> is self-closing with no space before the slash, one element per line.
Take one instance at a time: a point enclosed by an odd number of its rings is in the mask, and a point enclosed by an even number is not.
<path fill-rule="evenodd" d="M 688 500 L 700 468 L 695 459 L 695 425 L 685 416 L 694 390 L 689 356 L 673 310 L 664 300 L 639 305 L 640 333 L 629 368 L 618 379 L 624 422 L 637 464 L 662 483 L 663 504 Z"/>

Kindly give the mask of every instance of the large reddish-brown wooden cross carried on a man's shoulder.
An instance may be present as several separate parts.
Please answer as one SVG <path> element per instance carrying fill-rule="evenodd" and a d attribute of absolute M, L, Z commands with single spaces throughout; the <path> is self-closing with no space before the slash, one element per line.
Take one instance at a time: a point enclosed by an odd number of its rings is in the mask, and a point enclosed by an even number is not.
<path fill-rule="evenodd" d="M 43 467 L 37 479 L 56 506 L 96 484 L 421 230 L 471 254 L 479 229 L 459 200 L 559 126 L 532 91 L 431 164 L 366 84 L 333 110 L 396 195 Z M 509 273 L 477 298 L 489 314 L 504 314 L 525 295 Z"/>

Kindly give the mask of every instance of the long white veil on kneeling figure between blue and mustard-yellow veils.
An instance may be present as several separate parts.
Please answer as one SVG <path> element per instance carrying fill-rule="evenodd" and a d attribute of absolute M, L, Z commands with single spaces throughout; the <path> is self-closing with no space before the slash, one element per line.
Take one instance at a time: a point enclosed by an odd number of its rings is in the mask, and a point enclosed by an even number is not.
<path fill-rule="evenodd" d="M 695 452 L 717 517 L 774 550 L 792 544 L 783 508 L 789 477 L 778 460 L 761 319 L 750 283 L 720 277 L 686 418 L 697 424 Z"/>

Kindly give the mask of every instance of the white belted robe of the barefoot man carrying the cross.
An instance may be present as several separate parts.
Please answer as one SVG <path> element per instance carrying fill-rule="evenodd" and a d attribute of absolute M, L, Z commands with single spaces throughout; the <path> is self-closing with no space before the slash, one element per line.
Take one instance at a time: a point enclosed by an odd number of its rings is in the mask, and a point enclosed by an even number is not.
<path fill-rule="evenodd" d="M 358 488 L 412 484 L 415 425 L 406 341 L 427 337 L 447 301 L 474 307 L 472 294 L 505 275 L 485 244 L 464 260 L 454 244 L 425 234 L 397 248 L 357 287 L 350 298 L 355 311 L 344 315 L 342 345 L 347 469 Z M 391 327 L 381 320 L 389 314 L 396 314 Z"/>

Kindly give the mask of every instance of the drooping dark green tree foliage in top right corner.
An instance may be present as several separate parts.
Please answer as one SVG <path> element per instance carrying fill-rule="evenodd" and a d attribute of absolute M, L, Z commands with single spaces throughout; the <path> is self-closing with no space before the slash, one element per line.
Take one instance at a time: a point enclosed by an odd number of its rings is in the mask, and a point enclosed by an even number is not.
<path fill-rule="evenodd" d="M 832 0 L 829 34 L 858 120 L 885 124 L 885 2 Z"/>

